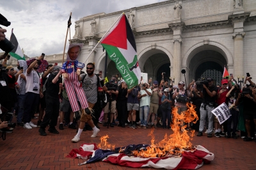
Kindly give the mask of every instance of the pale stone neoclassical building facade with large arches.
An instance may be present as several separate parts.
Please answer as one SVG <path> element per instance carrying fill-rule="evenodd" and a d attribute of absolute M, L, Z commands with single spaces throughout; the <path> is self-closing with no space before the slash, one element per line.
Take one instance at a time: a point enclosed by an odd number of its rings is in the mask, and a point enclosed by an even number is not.
<path fill-rule="evenodd" d="M 175 84 L 212 77 L 220 84 L 224 66 L 234 77 L 256 77 L 255 0 L 179 0 L 148 4 L 120 12 L 97 13 L 76 21 L 70 43 L 84 43 L 79 61 L 124 12 L 136 39 L 141 72 L 148 78 L 175 77 Z M 51 56 L 47 56 L 51 58 Z M 54 59 L 53 59 L 54 60 Z M 53 61 L 52 61 L 53 62 Z M 105 52 L 98 45 L 86 63 L 104 73 Z M 118 73 L 108 59 L 107 75 Z"/>

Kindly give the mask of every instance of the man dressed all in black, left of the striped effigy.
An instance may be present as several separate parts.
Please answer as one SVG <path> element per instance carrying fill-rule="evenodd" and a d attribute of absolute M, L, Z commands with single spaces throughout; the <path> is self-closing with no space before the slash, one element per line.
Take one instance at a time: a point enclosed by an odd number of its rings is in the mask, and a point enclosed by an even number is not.
<path fill-rule="evenodd" d="M 45 127 L 50 122 L 50 128 L 48 129 L 49 132 L 53 134 L 59 134 L 56 130 L 55 126 L 57 125 L 58 116 L 59 116 L 59 109 L 60 109 L 60 102 L 59 102 L 59 91 L 60 91 L 60 66 L 54 66 L 52 73 L 49 75 L 47 82 L 45 82 L 45 116 L 44 120 L 40 124 L 40 129 L 38 132 L 40 135 L 46 135 Z"/>

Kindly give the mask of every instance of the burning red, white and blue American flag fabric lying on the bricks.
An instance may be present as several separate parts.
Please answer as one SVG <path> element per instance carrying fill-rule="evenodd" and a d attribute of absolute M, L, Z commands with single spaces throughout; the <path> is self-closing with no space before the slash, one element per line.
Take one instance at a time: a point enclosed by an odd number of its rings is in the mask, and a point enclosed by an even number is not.
<path fill-rule="evenodd" d="M 131 144 L 129 146 L 115 148 L 115 150 L 102 150 L 96 147 L 95 144 L 82 144 L 79 153 L 74 154 L 74 150 L 67 155 L 69 158 L 83 158 L 86 160 L 78 165 L 91 164 L 97 161 L 109 162 L 125 167 L 154 167 L 164 169 L 198 169 L 204 164 L 210 164 L 214 160 L 214 154 L 204 148 L 204 146 L 196 145 L 193 151 L 184 151 L 180 157 L 134 157 L 132 151 L 145 150 L 148 144 Z M 83 151 L 82 149 L 83 148 Z M 122 153 L 119 151 L 122 150 Z M 77 150 L 78 151 L 78 150 Z"/>

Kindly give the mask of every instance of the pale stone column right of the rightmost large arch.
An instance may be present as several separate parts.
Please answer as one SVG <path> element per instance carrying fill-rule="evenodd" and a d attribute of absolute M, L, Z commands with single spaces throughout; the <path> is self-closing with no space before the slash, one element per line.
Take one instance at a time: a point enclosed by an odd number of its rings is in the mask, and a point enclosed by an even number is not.
<path fill-rule="evenodd" d="M 234 75 L 244 75 L 243 37 L 245 33 L 234 33 Z"/>

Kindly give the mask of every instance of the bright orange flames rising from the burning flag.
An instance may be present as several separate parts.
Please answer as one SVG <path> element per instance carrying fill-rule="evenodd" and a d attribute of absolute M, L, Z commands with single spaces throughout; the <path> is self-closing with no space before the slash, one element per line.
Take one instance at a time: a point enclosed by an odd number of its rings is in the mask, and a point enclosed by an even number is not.
<path fill-rule="evenodd" d="M 164 139 L 161 140 L 159 143 L 155 144 L 155 137 L 154 137 L 154 129 L 150 131 L 148 136 L 151 137 L 151 144 L 147 147 L 146 150 L 135 150 L 132 151 L 132 155 L 136 157 L 173 157 L 173 156 L 180 156 L 184 150 L 193 150 L 192 144 L 190 143 L 190 137 L 195 135 L 195 130 L 191 130 L 190 135 L 186 130 L 187 125 L 184 123 L 196 123 L 198 121 L 198 116 L 195 111 L 195 105 L 188 103 L 187 104 L 187 111 L 182 112 L 179 114 L 177 112 L 177 108 L 173 107 L 172 114 L 172 130 L 173 134 L 171 135 L 164 135 Z M 111 148 L 111 144 L 108 144 L 107 139 L 108 135 L 100 137 L 101 143 L 98 145 L 99 148 Z M 112 146 L 112 150 L 115 147 Z M 119 152 L 124 151 L 124 149 L 119 150 Z"/>

